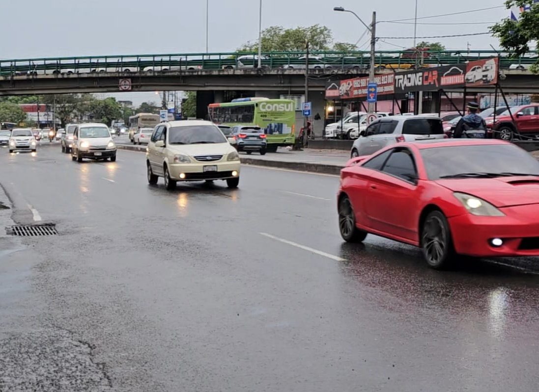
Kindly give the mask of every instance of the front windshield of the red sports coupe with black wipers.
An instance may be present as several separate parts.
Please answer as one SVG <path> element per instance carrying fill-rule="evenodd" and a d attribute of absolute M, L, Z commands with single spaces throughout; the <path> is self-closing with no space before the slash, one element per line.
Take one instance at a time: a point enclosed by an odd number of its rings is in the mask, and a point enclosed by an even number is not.
<path fill-rule="evenodd" d="M 430 180 L 473 174 L 495 177 L 515 174 L 539 176 L 539 162 L 516 145 L 459 145 L 421 149 L 427 177 Z"/>

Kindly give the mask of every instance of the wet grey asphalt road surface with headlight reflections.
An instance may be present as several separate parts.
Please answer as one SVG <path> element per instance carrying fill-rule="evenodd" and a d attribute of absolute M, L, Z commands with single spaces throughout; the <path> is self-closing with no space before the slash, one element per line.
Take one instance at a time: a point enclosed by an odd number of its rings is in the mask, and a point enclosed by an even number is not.
<path fill-rule="evenodd" d="M 539 260 L 438 272 L 344 244 L 337 177 L 244 166 L 238 190 L 167 192 L 143 153 L 78 164 L 59 145 L 0 168 L 2 224 L 60 233 L 0 233 L 0 391 L 539 387 Z"/>

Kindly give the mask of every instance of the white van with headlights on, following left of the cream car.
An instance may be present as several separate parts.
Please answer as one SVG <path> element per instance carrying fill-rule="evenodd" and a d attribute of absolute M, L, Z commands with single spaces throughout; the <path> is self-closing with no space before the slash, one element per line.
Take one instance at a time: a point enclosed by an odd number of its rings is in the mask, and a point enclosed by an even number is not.
<path fill-rule="evenodd" d="M 73 132 L 71 159 L 82 162 L 82 159 L 116 160 L 116 144 L 108 127 L 101 123 L 78 124 Z"/>

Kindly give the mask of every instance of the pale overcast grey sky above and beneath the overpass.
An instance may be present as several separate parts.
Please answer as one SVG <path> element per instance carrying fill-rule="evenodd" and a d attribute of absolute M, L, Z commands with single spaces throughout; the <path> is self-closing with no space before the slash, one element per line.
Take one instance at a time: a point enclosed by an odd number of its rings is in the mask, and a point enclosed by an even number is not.
<path fill-rule="evenodd" d="M 258 38 L 257 0 L 208 0 L 209 51 L 232 52 L 246 41 Z M 84 55 L 204 53 L 206 50 L 206 2 L 204 0 L 26 0 L 2 1 L 0 59 L 64 57 Z M 350 13 L 335 12 L 334 6 L 353 10 L 367 24 L 372 11 L 378 21 L 414 17 L 416 0 L 262 0 L 262 29 L 321 24 L 333 31 L 335 41 L 356 43 L 365 27 Z M 417 37 L 446 36 L 488 31 L 490 23 L 507 17 L 503 0 L 417 0 L 418 18 L 446 13 L 498 7 L 440 18 L 419 19 Z M 53 5 L 52 5 L 53 4 Z M 5 17 L 12 15 L 14 17 Z M 20 18 L 24 18 L 23 25 Z M 413 37 L 413 20 L 406 24 L 381 22 L 378 37 Z M 410 23 L 410 24 L 407 24 Z M 428 23 L 428 24 L 424 24 Z M 469 23 L 448 25 L 443 23 Z M 11 32 L 6 34 L 5 32 Z M 8 38 L 9 37 L 9 38 Z M 423 40 L 418 38 L 418 41 Z M 449 49 L 471 50 L 499 47 L 485 36 L 429 38 Z M 385 42 L 383 42 L 385 41 Z M 379 40 L 377 50 L 413 46 L 413 39 Z M 368 49 L 368 37 L 358 46 Z M 123 93 L 123 100 L 140 103 L 154 93 Z"/>

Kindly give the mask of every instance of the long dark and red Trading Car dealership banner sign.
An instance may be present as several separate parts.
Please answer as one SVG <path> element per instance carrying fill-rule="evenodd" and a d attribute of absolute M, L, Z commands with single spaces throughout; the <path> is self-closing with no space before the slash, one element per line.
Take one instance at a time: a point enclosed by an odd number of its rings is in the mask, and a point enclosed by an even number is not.
<path fill-rule="evenodd" d="M 454 65 L 377 75 L 378 95 L 495 85 L 498 78 L 498 63 L 498 58 L 485 58 Z M 364 99 L 367 97 L 368 82 L 368 77 L 329 82 L 326 86 L 326 99 Z"/>

